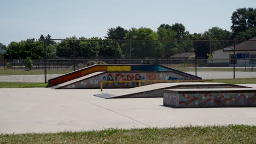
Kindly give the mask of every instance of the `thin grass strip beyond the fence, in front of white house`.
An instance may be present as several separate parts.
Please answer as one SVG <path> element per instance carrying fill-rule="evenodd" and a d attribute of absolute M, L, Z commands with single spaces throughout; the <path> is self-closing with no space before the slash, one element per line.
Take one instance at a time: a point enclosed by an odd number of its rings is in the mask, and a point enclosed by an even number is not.
<path fill-rule="evenodd" d="M 195 71 L 195 68 L 174 68 L 179 71 Z M 233 68 L 197 68 L 197 71 L 234 71 Z M 235 68 L 235 71 L 247 71 L 247 72 L 256 72 L 256 68 Z"/>

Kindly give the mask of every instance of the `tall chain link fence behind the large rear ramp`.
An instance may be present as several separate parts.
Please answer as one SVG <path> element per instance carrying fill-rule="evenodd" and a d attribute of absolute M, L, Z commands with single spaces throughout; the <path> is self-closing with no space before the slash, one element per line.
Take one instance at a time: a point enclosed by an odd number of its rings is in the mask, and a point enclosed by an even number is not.
<path fill-rule="evenodd" d="M 92 64 L 161 64 L 203 79 L 254 78 L 256 40 L 45 39 L 44 59 L 33 59 L 32 70 L 47 82 Z M 26 61 L 3 59 L 0 69 L 7 67 L 26 69 Z"/>

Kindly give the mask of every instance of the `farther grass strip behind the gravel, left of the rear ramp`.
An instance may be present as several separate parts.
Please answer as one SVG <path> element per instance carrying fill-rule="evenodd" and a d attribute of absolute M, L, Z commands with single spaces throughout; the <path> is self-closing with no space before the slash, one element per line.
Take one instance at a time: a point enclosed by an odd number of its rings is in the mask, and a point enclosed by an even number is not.
<path fill-rule="evenodd" d="M 66 74 L 72 70 L 47 70 L 47 74 Z M 1 69 L 1 75 L 44 75 L 44 70 Z"/>

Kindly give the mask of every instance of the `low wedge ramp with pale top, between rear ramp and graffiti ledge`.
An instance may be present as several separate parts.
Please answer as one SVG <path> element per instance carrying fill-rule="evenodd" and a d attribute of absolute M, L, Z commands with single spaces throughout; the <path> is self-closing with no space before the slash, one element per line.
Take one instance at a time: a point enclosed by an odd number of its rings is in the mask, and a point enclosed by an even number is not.
<path fill-rule="evenodd" d="M 156 83 L 153 85 L 123 89 L 121 91 L 95 94 L 101 98 L 158 98 L 163 97 L 165 89 L 182 88 L 247 88 L 245 86 L 231 85 L 227 83 L 212 82 L 180 82 L 180 83 Z"/>

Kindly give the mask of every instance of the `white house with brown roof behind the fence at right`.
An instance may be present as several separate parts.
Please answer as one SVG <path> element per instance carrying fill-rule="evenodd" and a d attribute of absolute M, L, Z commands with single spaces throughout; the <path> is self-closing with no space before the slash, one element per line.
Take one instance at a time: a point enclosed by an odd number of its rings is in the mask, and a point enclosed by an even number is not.
<path fill-rule="evenodd" d="M 256 40 L 256 37 L 250 40 Z M 233 60 L 234 56 L 235 61 Z M 214 63 L 226 63 L 230 67 L 233 66 L 234 63 L 236 67 L 251 67 L 253 65 L 256 66 L 256 41 L 243 41 L 240 44 L 236 44 L 235 55 L 233 46 L 214 51 L 213 59 Z"/>

